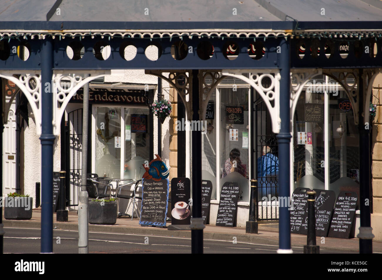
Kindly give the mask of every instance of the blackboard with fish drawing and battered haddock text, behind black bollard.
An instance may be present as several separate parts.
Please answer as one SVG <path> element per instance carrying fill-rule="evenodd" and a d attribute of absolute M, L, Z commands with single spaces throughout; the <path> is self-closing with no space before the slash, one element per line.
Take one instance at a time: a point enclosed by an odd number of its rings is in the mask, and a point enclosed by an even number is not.
<path fill-rule="evenodd" d="M 332 220 L 335 192 L 333 190 L 319 190 L 316 192 L 314 212 L 316 214 L 316 236 L 328 236 L 330 221 Z"/>

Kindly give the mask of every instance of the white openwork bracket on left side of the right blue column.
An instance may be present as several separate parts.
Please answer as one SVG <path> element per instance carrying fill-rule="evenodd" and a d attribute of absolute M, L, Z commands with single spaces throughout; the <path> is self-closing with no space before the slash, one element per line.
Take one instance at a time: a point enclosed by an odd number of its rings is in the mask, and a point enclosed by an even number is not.
<path fill-rule="evenodd" d="M 244 82 L 251 85 L 264 100 L 269 110 L 269 115 L 272 121 L 273 133 L 280 132 L 280 72 L 278 69 L 259 69 L 257 74 L 253 73 L 254 69 L 241 69 L 241 70 L 226 70 L 222 71 L 222 75 L 239 78 Z M 250 73 L 249 78 L 243 75 Z M 270 85 L 265 88 L 262 85 L 262 79 L 268 77 Z M 273 104 L 272 104 L 273 103 Z"/>

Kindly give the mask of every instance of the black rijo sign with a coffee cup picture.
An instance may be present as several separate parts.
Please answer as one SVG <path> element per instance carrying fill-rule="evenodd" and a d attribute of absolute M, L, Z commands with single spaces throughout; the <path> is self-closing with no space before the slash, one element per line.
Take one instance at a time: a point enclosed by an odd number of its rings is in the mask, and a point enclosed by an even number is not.
<path fill-rule="evenodd" d="M 191 224 L 190 179 L 172 178 L 171 180 L 171 224 Z"/>

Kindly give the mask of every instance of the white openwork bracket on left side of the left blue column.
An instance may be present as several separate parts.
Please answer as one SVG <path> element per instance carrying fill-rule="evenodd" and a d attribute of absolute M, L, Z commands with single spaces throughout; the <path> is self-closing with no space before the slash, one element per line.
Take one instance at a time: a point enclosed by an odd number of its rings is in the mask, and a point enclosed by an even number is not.
<path fill-rule="evenodd" d="M 15 75 L 19 75 L 19 77 L 17 78 L 15 77 Z M 30 71 L 27 74 L 20 74 L 19 71 L 2 71 L 0 72 L 0 77 L 13 82 L 25 94 L 34 115 L 34 119 L 36 123 L 36 133 L 38 136 L 40 136 L 41 135 L 41 75 L 40 75 L 40 71 Z M 14 97 L 15 96 L 13 96 L 13 98 Z M 11 102 L 12 101 L 10 100 L 10 103 Z M 10 106 L 10 104 L 7 104 L 7 105 Z M 9 106 L 8 106 L 8 110 L 9 110 Z M 3 114 L 5 114 L 5 110 L 3 111 Z M 8 117 L 8 114 L 3 116 L 3 122 L 4 122 L 4 118 L 7 118 L 7 117 Z"/>

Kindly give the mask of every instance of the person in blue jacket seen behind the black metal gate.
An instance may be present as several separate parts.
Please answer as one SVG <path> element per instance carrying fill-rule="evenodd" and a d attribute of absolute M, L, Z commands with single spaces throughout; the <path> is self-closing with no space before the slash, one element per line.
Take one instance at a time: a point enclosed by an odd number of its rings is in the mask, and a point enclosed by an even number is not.
<path fill-rule="evenodd" d="M 276 196 L 278 181 L 278 158 L 271 154 L 270 147 L 264 146 L 262 156 L 257 158 L 258 200 L 263 196 Z M 266 187 L 266 189 L 265 189 Z"/>

